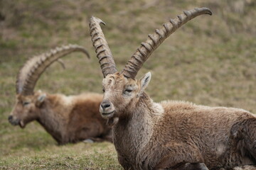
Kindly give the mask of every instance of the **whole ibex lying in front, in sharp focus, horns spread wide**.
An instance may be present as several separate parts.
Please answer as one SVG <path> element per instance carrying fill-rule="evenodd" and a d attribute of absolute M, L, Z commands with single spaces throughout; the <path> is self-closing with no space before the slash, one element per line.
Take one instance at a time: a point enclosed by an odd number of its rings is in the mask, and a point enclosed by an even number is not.
<path fill-rule="evenodd" d="M 90 35 L 104 75 L 100 113 L 113 126 L 114 146 L 124 169 L 230 169 L 256 163 L 255 115 L 185 101 L 154 103 L 144 92 L 150 72 L 135 79 L 161 42 L 203 14 L 212 13 L 195 8 L 164 23 L 142 42 L 122 72 L 117 72 L 100 28 L 103 21 L 90 18 Z"/>

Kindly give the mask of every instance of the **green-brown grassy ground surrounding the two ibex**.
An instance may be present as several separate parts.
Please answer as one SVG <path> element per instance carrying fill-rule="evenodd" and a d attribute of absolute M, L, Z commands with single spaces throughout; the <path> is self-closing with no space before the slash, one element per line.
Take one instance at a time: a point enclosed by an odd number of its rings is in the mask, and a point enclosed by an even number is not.
<path fill-rule="evenodd" d="M 68 43 L 84 45 L 91 60 L 73 54 L 66 69 L 53 64 L 36 89 L 66 95 L 101 93 L 102 74 L 88 18 L 102 18 L 117 68 L 146 35 L 183 10 L 206 6 L 201 16 L 171 35 L 144 64 L 154 101 L 192 101 L 256 113 L 256 4 L 252 0 L 9 1 L 0 0 L 0 169 L 122 169 L 110 143 L 58 147 L 38 123 L 24 130 L 7 117 L 14 106 L 16 74 L 33 55 Z"/>

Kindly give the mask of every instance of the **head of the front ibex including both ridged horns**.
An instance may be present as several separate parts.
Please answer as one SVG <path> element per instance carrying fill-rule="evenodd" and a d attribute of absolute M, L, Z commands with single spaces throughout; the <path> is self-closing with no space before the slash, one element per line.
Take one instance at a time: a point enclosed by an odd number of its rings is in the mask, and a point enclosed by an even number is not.
<path fill-rule="evenodd" d="M 138 104 L 137 101 L 147 99 L 144 89 L 149 84 L 151 74 L 147 73 L 142 79 L 137 80 L 135 77 L 139 69 L 171 33 L 189 20 L 203 14 L 211 15 L 212 13 L 208 8 L 195 8 L 191 11 L 184 11 L 168 23 L 164 23 L 161 29 L 156 29 L 154 34 L 149 34 L 149 38 L 142 42 L 122 72 L 117 72 L 112 53 L 100 28 L 100 23 L 104 25 L 105 23 L 99 18 L 93 16 L 90 18 L 90 35 L 104 76 L 102 85 L 105 94 L 100 106 L 103 118 L 120 118 L 127 113 L 132 113 Z"/>

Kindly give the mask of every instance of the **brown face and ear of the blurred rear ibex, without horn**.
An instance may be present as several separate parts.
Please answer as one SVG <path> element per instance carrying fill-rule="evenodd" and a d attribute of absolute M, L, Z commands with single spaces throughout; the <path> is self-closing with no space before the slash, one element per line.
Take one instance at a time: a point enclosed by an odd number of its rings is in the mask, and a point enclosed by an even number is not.
<path fill-rule="evenodd" d="M 41 91 L 29 96 L 18 94 L 14 109 L 8 118 L 9 122 L 12 125 L 20 125 L 21 128 L 25 128 L 27 123 L 38 119 L 39 109 L 45 98 L 46 94 Z"/>

